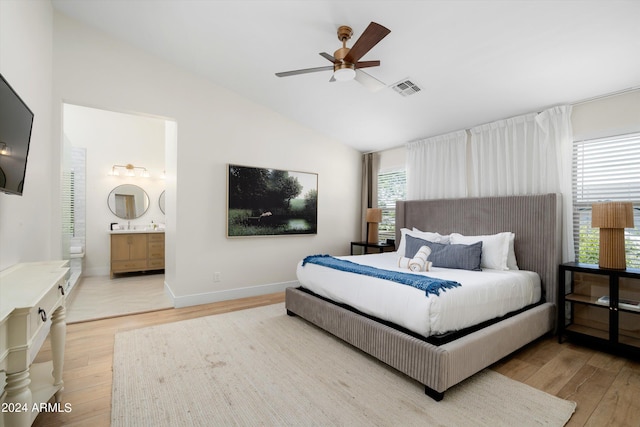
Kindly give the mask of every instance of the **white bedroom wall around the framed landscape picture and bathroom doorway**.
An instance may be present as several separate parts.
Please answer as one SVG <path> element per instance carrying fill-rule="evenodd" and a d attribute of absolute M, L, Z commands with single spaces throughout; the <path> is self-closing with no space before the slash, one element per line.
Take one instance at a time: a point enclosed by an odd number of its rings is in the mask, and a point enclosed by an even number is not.
<path fill-rule="evenodd" d="M 348 253 L 359 152 L 57 13 L 54 59 L 54 126 L 63 101 L 175 120 L 165 280 L 177 305 L 281 289 L 305 255 Z M 318 234 L 227 239 L 227 163 L 318 173 Z"/>

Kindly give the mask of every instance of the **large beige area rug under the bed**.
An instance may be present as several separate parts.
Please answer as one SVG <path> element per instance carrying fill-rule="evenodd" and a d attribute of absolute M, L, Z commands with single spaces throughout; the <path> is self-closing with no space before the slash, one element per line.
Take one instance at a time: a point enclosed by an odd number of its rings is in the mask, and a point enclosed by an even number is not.
<path fill-rule="evenodd" d="M 116 335 L 112 426 L 562 426 L 575 403 L 491 370 L 435 402 L 284 304 Z"/>

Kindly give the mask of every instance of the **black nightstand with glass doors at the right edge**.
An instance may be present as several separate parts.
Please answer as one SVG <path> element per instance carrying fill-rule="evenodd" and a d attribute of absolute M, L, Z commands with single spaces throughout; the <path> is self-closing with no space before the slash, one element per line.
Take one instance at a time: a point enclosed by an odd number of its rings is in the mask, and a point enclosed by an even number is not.
<path fill-rule="evenodd" d="M 640 357 L 640 270 L 560 265 L 558 341 Z"/>

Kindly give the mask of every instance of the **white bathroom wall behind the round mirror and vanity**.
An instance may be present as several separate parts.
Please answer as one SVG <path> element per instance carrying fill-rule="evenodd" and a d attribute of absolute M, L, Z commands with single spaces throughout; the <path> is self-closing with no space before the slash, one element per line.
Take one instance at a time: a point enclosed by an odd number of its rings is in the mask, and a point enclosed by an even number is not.
<path fill-rule="evenodd" d="M 109 225 L 117 222 L 107 206 L 107 196 L 118 185 L 134 184 L 149 196 L 149 208 L 132 227 L 164 223 L 158 203 L 164 191 L 165 120 L 65 104 L 64 134 L 73 147 L 86 149 L 86 276 L 109 274 Z M 113 165 L 145 167 L 148 178 L 110 176 Z"/>

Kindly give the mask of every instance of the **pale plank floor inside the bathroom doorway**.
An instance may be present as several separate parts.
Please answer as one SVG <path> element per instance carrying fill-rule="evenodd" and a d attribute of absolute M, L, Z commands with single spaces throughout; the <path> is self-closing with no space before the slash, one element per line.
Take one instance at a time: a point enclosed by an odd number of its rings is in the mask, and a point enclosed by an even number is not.
<path fill-rule="evenodd" d="M 67 323 L 173 308 L 164 274 L 83 277 L 67 298 Z"/>

